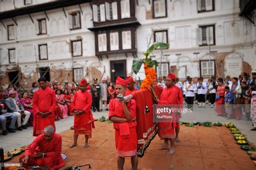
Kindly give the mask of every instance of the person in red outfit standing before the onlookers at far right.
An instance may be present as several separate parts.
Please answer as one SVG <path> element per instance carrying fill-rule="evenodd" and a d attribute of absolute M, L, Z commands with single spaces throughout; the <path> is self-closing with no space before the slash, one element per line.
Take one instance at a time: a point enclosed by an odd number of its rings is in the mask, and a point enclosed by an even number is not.
<path fill-rule="evenodd" d="M 216 92 L 216 105 L 215 105 L 215 111 L 218 113 L 220 116 L 225 116 L 225 101 L 224 101 L 224 96 L 225 96 L 225 87 L 227 85 L 223 84 L 223 78 L 218 78 L 217 80 L 218 83 L 218 89 Z"/>

